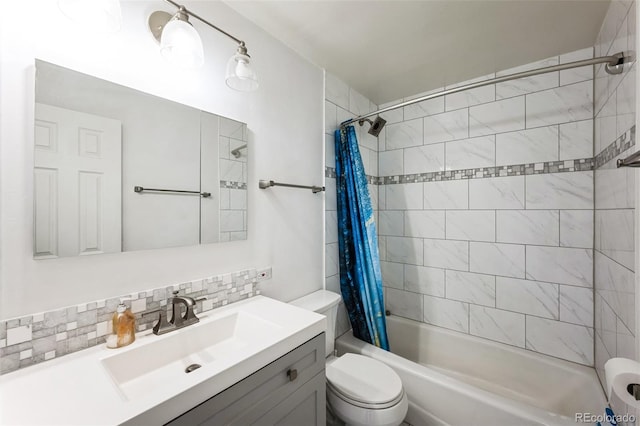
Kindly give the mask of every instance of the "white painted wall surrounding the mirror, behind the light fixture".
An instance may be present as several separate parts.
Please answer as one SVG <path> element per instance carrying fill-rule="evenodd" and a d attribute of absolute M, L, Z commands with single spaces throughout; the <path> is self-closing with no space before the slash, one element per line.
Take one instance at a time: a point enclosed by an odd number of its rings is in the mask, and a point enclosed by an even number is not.
<path fill-rule="evenodd" d="M 273 280 L 262 292 L 281 300 L 322 287 L 323 195 L 257 189 L 258 179 L 322 181 L 322 72 L 222 3 L 186 6 L 244 38 L 259 91 L 236 93 L 225 86 L 225 64 L 235 45 L 198 22 L 205 66 L 180 71 L 165 64 L 146 29 L 152 11 L 172 11 L 161 1 L 122 2 L 123 29 L 108 36 L 69 24 L 53 0 L 5 5 L 0 17 L 0 318 L 251 266 L 273 267 Z M 248 240 L 34 261 L 34 58 L 248 123 Z"/>

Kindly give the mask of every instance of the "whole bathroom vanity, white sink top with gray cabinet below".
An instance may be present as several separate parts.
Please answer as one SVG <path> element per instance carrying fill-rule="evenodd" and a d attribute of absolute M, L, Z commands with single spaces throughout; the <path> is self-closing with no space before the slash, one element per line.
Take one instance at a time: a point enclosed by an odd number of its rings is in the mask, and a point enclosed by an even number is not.
<path fill-rule="evenodd" d="M 1 376 L 0 424 L 323 425 L 325 329 L 322 315 L 256 296 Z"/>

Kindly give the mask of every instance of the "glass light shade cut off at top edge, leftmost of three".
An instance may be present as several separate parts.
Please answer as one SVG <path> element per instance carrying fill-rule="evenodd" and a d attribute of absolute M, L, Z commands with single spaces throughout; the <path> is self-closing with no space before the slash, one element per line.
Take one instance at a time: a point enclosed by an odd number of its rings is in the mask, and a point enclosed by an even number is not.
<path fill-rule="evenodd" d="M 100 33 L 122 28 L 119 0 L 58 0 L 62 13 L 72 21 Z"/>

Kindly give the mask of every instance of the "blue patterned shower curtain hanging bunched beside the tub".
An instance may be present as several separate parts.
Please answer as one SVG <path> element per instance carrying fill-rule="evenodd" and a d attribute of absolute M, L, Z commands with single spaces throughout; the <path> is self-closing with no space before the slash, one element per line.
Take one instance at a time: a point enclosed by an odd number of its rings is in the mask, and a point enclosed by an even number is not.
<path fill-rule="evenodd" d="M 376 224 L 353 126 L 335 132 L 340 290 L 357 338 L 389 350 Z"/>

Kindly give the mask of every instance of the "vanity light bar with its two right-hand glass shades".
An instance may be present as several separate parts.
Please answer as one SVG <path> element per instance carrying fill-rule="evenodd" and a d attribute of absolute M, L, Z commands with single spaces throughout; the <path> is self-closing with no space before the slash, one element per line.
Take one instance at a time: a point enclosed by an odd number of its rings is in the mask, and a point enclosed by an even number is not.
<path fill-rule="evenodd" d="M 244 41 L 216 27 L 173 0 L 165 1 L 177 7 L 178 11 L 174 15 L 156 11 L 149 16 L 149 29 L 160 43 L 162 56 L 178 66 L 195 67 L 204 63 L 202 40 L 189 22 L 189 17 L 192 17 L 238 43 L 236 53 L 227 62 L 225 74 L 227 86 L 242 92 L 250 92 L 258 88 L 258 77 L 251 66 L 251 57 L 247 53 Z"/>

